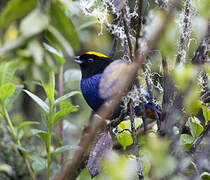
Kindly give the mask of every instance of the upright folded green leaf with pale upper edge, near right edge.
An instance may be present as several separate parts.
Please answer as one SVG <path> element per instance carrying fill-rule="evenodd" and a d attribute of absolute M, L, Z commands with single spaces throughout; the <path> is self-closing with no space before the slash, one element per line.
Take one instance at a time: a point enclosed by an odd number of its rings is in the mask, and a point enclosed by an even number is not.
<path fill-rule="evenodd" d="M 190 117 L 188 120 L 190 132 L 194 138 L 198 137 L 203 132 L 203 126 L 200 124 L 200 120 L 196 117 Z"/>

